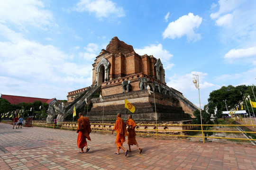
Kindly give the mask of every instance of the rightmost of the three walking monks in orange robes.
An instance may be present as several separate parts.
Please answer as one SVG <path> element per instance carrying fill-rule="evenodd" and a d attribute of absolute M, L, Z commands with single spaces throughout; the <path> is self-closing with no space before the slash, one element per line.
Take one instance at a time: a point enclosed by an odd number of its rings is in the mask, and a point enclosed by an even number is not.
<path fill-rule="evenodd" d="M 126 124 L 128 125 L 128 145 L 129 145 L 129 152 L 131 152 L 131 145 L 136 145 L 139 153 L 142 152 L 142 149 L 138 146 L 138 143 L 136 141 L 136 133 L 135 133 L 135 127 L 137 126 L 137 124 L 134 122 L 134 120 L 132 119 L 132 115 L 128 115 L 128 120 L 126 122 Z"/>

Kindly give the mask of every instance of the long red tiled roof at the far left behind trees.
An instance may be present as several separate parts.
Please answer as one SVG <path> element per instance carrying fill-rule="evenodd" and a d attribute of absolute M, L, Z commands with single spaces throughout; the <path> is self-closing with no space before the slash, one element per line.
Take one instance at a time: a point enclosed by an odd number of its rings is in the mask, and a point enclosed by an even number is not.
<path fill-rule="evenodd" d="M 50 103 L 53 99 L 43 99 L 43 98 L 35 98 L 35 97 L 24 97 L 24 96 L 14 96 L 14 95 L 5 95 L 1 94 L 1 98 L 8 100 L 11 104 L 18 104 L 21 102 L 29 103 L 29 102 L 35 102 L 35 101 L 41 101 Z"/>

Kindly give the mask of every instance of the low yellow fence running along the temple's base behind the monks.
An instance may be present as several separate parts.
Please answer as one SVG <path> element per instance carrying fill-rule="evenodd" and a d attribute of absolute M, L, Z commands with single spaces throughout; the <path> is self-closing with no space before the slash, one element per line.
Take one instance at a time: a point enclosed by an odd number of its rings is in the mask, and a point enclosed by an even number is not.
<path fill-rule="evenodd" d="M 12 121 L 1 121 L 1 123 L 12 123 Z M 32 123 L 33 126 L 37 127 L 54 127 L 54 123 L 47 123 L 43 121 L 34 121 Z M 69 123 L 69 122 L 62 122 L 57 123 L 55 125 L 55 128 L 60 129 L 67 129 L 67 130 L 76 130 L 78 126 L 78 123 Z M 236 139 L 236 140 L 250 140 L 250 141 L 256 141 L 256 139 L 252 138 L 232 138 L 232 137 L 217 137 L 217 136 L 192 136 L 188 135 L 192 132 L 201 132 L 200 134 L 204 132 L 224 132 L 224 133 L 250 133 L 255 134 L 256 132 L 245 132 L 245 131 L 221 131 L 221 130 L 193 130 L 191 128 L 193 127 L 201 127 L 201 126 L 218 126 L 218 127 L 253 127 L 256 125 L 184 125 L 184 124 L 138 124 L 136 127 L 136 134 L 141 135 L 150 135 L 150 136 L 156 136 L 158 139 L 158 136 L 178 136 L 178 137 L 199 137 L 202 138 L 204 142 L 204 138 L 217 138 L 217 139 Z M 91 130 L 92 131 L 98 131 L 103 134 L 103 132 L 111 132 L 114 127 L 114 124 L 110 123 L 91 123 Z"/>

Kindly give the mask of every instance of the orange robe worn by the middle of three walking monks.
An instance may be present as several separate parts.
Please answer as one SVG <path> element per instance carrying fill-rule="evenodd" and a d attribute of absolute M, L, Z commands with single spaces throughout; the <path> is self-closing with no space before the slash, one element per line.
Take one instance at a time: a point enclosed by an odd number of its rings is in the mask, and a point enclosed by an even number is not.
<path fill-rule="evenodd" d="M 116 124 L 114 126 L 114 129 L 117 132 L 116 144 L 117 144 L 117 147 L 119 149 L 120 146 L 122 146 L 123 143 L 125 142 L 125 136 L 128 135 L 127 129 L 126 129 L 126 124 L 125 124 L 124 120 L 121 119 L 121 118 L 118 118 L 116 120 Z"/>

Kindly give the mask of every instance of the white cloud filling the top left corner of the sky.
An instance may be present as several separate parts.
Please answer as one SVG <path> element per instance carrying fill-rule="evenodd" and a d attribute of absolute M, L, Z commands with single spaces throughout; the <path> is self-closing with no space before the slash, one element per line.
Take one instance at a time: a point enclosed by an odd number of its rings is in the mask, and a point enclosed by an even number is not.
<path fill-rule="evenodd" d="M 40 0 L 1 0 L 0 23 L 47 29 L 46 26 L 54 23 L 54 18 L 44 7 L 44 3 Z"/>

